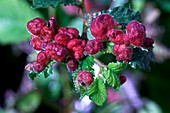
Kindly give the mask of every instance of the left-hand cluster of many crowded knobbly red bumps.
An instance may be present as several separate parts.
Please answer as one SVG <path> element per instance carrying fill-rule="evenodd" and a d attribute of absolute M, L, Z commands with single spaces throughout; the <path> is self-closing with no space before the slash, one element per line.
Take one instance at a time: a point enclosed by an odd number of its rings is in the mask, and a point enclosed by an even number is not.
<path fill-rule="evenodd" d="M 57 28 L 55 17 L 48 20 L 48 25 L 42 18 L 35 18 L 27 23 L 31 34 L 30 43 L 38 50 L 36 61 L 32 63 L 33 71 L 40 72 L 49 60 L 67 62 L 70 71 L 78 67 L 77 60 L 84 57 L 86 41 L 79 38 L 76 28 Z"/>

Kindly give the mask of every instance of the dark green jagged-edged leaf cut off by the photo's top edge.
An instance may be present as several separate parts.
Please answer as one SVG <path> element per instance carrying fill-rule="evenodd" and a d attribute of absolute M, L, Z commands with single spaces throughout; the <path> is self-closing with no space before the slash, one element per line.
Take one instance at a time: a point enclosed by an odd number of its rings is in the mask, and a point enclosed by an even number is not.
<path fill-rule="evenodd" d="M 33 8 L 47 8 L 48 6 L 57 7 L 58 4 L 76 5 L 76 0 L 32 0 Z"/>

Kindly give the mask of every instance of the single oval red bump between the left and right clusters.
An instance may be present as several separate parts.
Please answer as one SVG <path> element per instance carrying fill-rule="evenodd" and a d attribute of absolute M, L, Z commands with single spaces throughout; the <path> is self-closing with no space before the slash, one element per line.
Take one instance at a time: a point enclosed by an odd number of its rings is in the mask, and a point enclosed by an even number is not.
<path fill-rule="evenodd" d="M 94 40 L 88 41 L 84 49 L 87 54 L 93 55 L 99 52 L 100 50 L 102 50 L 103 47 L 104 45 L 100 40 L 94 39 Z"/>

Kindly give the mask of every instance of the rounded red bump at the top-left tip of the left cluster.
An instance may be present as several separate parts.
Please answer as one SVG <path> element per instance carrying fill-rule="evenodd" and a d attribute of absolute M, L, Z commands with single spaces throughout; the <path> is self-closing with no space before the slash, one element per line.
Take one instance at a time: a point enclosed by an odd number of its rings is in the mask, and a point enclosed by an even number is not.
<path fill-rule="evenodd" d="M 32 35 L 39 35 L 46 22 L 42 18 L 35 18 L 27 23 L 27 30 Z"/>

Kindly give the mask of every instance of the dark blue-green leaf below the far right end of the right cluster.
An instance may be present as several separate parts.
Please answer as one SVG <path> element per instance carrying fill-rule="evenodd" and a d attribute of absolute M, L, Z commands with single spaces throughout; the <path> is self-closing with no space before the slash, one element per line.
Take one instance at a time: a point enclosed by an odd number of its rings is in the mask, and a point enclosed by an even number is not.
<path fill-rule="evenodd" d="M 141 48 L 134 48 L 132 60 L 129 62 L 131 67 L 136 68 L 136 66 L 139 66 L 141 69 L 150 71 L 150 63 L 155 61 L 152 49 L 142 50 Z"/>

